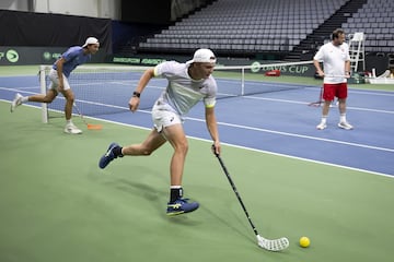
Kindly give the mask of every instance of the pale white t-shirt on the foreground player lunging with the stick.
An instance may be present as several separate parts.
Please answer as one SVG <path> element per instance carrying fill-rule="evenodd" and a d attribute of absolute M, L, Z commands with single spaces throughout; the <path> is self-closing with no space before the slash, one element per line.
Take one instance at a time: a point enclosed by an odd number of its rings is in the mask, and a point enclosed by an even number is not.
<path fill-rule="evenodd" d="M 154 76 L 169 80 L 166 88 L 155 103 L 157 109 L 183 116 L 201 99 L 206 107 L 215 107 L 218 87 L 213 76 L 193 80 L 187 73 L 188 67 L 186 63 L 166 61 L 154 68 Z"/>

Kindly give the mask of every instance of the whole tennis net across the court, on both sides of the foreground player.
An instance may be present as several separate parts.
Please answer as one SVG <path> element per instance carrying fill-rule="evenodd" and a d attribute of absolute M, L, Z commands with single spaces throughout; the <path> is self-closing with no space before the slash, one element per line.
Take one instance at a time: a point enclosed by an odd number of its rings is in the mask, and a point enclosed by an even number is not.
<path fill-rule="evenodd" d="M 217 66 L 213 76 L 218 82 L 218 98 L 228 98 L 268 92 L 302 88 L 300 83 L 273 82 L 267 71 L 300 70 L 312 61 L 280 62 L 252 66 Z M 40 66 L 42 94 L 50 85 L 51 66 Z M 84 116 L 102 116 L 128 111 L 128 102 L 147 67 L 130 66 L 80 66 L 68 78 L 74 93 L 74 103 Z M 275 78 L 280 79 L 280 78 Z M 164 79 L 152 79 L 141 96 L 139 109 L 150 109 L 167 83 Z M 63 112 L 65 98 L 59 95 L 51 104 L 43 104 L 43 122 Z M 78 115 L 77 108 L 73 114 Z"/>

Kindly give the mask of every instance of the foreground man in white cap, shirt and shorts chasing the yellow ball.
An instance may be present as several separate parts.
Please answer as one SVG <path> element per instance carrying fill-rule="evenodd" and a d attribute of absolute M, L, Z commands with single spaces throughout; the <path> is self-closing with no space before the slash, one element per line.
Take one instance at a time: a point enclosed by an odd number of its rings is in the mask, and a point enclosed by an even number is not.
<path fill-rule="evenodd" d="M 152 108 L 154 128 L 140 144 L 121 147 L 117 143 L 112 143 L 99 163 L 100 168 L 105 168 L 113 159 L 125 155 L 148 156 L 169 141 L 174 148 L 170 166 L 170 201 L 166 207 L 169 216 L 193 212 L 199 206 L 197 202 L 188 202 L 183 198 L 182 177 L 188 144 L 182 123 L 183 116 L 200 99 L 205 104 L 206 122 L 213 141 L 215 153 L 220 153 L 215 116 L 217 83 L 211 75 L 215 66 L 213 52 L 209 49 L 198 49 L 193 60 L 186 63 L 165 61 L 144 71 L 129 100 L 132 112 L 138 109 L 141 93 L 152 78 L 162 76 L 169 81 L 165 91 Z"/>

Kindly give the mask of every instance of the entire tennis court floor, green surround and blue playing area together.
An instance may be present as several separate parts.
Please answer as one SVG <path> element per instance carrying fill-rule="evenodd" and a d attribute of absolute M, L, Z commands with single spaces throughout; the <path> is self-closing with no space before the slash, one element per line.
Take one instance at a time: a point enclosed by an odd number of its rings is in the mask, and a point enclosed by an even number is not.
<path fill-rule="evenodd" d="M 273 253 L 257 247 L 210 153 L 201 105 L 185 122 L 190 150 L 184 177 L 186 195 L 201 207 L 169 218 L 169 145 L 150 157 L 97 167 L 111 142 L 144 139 L 148 107 L 134 115 L 96 115 L 89 121 L 103 130 L 67 135 L 61 117 L 43 124 L 37 107 L 9 114 L 15 92 L 39 92 L 31 72 L 0 79 L 1 261 L 389 261 L 394 255 L 392 87 L 351 87 L 352 131 L 336 127 L 337 108 L 331 109 L 328 129 L 315 130 L 321 108 L 308 105 L 318 98 L 320 81 L 218 100 L 222 158 L 256 227 L 264 237 L 290 240 L 289 249 Z M 219 88 L 236 81 L 218 78 Z M 83 127 L 77 117 L 74 122 Z M 298 246 L 301 236 L 311 238 L 310 248 Z"/>

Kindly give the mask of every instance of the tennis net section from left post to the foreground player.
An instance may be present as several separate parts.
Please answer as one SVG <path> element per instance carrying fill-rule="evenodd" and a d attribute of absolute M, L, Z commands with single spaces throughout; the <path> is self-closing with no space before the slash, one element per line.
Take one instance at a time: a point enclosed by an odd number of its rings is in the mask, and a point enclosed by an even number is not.
<path fill-rule="evenodd" d="M 50 86 L 51 66 L 40 66 L 40 92 L 46 94 Z M 101 116 L 128 111 L 128 102 L 146 67 L 119 66 L 80 66 L 68 78 L 74 93 L 74 104 L 84 116 Z M 165 85 L 150 84 L 143 92 L 140 109 L 153 106 Z M 43 122 L 63 112 L 65 97 L 58 97 L 51 104 L 43 104 Z M 73 108 L 73 114 L 78 114 Z"/>

